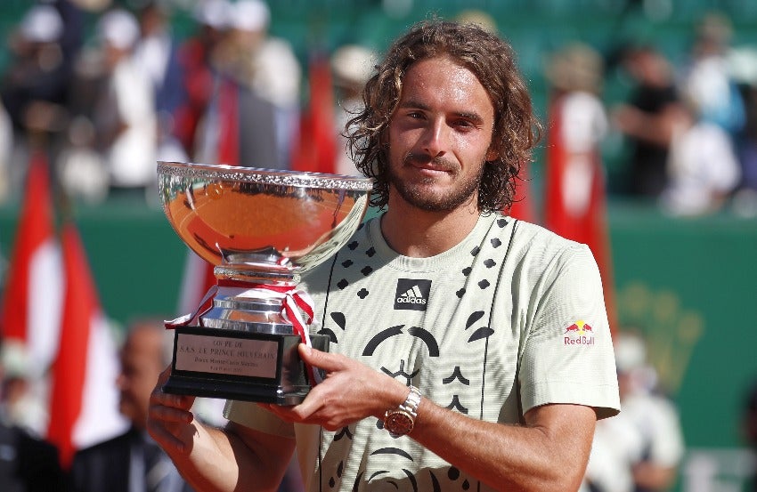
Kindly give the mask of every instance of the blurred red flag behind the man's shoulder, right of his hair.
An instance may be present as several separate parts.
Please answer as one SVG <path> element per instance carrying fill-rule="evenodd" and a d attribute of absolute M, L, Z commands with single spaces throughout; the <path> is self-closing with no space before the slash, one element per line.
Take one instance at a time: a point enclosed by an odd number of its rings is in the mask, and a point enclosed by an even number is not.
<path fill-rule="evenodd" d="M 590 107 L 579 106 L 581 100 L 569 100 L 572 97 L 574 94 L 571 93 L 558 96 L 549 107 L 544 225 L 564 238 L 590 247 L 602 276 L 610 327 L 615 330 L 615 287 L 606 223 L 605 174 L 597 141 L 592 145 L 585 141 L 582 145 L 567 141 L 566 129 L 570 125 L 566 122 L 566 112 L 581 111 L 582 121 L 586 121 L 586 115 L 591 113 Z M 568 108 L 568 104 L 572 107 Z"/>

